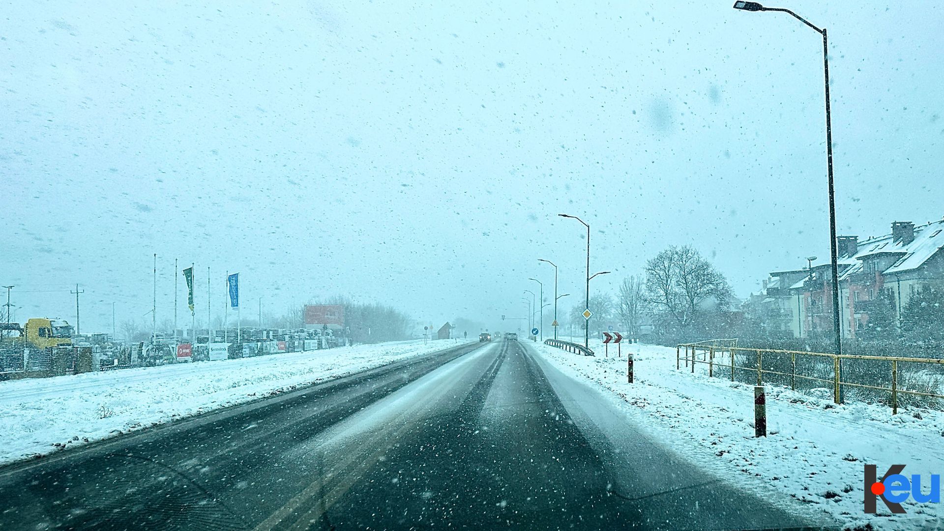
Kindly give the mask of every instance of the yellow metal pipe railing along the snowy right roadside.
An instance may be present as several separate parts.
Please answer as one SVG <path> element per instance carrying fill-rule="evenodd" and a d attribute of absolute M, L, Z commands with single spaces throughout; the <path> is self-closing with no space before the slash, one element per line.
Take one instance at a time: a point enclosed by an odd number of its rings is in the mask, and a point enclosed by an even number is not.
<path fill-rule="evenodd" d="M 773 384 L 857 401 L 944 409 L 944 359 L 777 351 L 712 339 L 676 347 L 675 368 L 746 384 Z M 818 391 L 818 393 L 817 393 Z"/>

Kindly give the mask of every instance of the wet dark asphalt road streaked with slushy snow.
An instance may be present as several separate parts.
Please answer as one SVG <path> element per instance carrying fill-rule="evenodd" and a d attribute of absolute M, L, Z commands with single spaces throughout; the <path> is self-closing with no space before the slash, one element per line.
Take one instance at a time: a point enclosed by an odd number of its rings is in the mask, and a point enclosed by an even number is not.
<path fill-rule="evenodd" d="M 0 470 L 0 529 L 757 529 L 516 341 L 473 343 Z"/>

